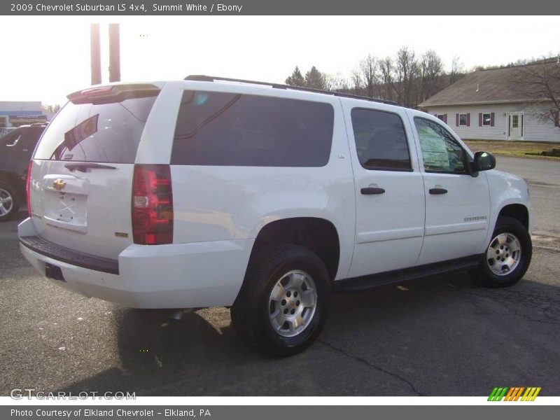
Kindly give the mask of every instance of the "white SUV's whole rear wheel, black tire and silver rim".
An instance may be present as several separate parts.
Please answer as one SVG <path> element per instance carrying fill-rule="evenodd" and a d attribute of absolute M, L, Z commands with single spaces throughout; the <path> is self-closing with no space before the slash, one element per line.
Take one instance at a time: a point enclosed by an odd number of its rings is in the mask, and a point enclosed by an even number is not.
<path fill-rule="evenodd" d="M 235 330 L 269 356 L 291 356 L 319 335 L 330 304 L 323 261 L 308 248 L 279 245 L 251 263 L 231 308 Z"/>

